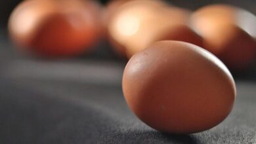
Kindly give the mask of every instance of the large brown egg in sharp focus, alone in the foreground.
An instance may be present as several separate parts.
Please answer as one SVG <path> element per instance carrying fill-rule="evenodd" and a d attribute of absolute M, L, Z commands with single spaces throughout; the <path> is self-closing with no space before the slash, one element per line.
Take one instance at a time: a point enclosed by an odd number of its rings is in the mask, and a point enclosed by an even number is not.
<path fill-rule="evenodd" d="M 190 134 L 222 122 L 232 109 L 236 88 L 213 54 L 190 43 L 160 41 L 129 60 L 123 94 L 148 126 Z"/>

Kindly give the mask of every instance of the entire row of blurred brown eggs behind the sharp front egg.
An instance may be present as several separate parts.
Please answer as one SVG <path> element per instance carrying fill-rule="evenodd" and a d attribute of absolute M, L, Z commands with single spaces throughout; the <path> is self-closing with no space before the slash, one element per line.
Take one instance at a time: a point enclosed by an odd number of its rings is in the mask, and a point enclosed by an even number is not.
<path fill-rule="evenodd" d="M 12 41 L 45 57 L 89 52 L 104 38 L 113 50 L 131 58 L 150 44 L 176 40 L 202 46 L 230 69 L 255 60 L 256 17 L 247 10 L 215 4 L 195 12 L 158 0 L 27 0 L 9 20 Z"/>

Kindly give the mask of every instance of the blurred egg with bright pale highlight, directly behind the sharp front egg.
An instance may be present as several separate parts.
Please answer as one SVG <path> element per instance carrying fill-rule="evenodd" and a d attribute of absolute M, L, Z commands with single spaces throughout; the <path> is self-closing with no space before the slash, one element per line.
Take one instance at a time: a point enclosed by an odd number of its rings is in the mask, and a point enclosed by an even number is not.
<path fill-rule="evenodd" d="M 160 3 L 160 1 L 158 1 Z M 127 2 L 112 18 L 108 31 L 114 46 L 127 57 L 143 50 L 155 41 L 172 39 L 202 45 L 202 39 L 188 26 L 189 12 L 148 1 Z M 188 34 L 184 37 L 184 33 Z"/>

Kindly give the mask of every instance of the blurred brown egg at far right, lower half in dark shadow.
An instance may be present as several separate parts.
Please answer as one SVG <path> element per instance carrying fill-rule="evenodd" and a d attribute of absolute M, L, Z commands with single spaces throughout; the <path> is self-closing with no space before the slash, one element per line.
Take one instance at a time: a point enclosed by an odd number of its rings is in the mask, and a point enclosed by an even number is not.
<path fill-rule="evenodd" d="M 248 67 L 256 56 L 256 18 L 230 5 L 209 5 L 191 16 L 191 25 L 204 39 L 203 48 L 231 69 Z M 251 36 L 250 36 L 251 35 Z"/>

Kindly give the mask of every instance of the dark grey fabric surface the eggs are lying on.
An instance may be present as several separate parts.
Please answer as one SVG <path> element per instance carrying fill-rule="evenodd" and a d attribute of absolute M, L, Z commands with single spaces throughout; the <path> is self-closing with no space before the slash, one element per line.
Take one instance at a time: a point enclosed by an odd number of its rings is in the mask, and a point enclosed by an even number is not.
<path fill-rule="evenodd" d="M 0 143 L 256 143 L 255 82 L 237 81 L 234 109 L 215 128 L 161 134 L 128 109 L 125 62 L 101 56 L 37 60 L 14 52 L 1 35 Z"/>

